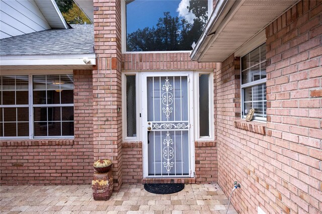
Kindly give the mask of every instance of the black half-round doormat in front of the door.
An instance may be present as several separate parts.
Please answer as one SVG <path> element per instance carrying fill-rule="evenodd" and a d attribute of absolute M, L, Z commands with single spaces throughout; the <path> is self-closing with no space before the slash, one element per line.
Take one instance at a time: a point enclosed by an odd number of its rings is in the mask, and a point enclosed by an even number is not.
<path fill-rule="evenodd" d="M 154 194 L 172 194 L 185 188 L 184 183 L 145 183 L 144 189 Z"/>

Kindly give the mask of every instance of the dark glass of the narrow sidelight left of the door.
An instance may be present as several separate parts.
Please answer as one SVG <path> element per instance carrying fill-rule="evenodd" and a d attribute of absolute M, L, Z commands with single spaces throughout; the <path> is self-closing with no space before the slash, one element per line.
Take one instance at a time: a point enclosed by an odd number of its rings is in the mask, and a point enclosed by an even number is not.
<path fill-rule="evenodd" d="M 126 130 L 127 137 L 136 137 L 135 75 L 126 76 Z"/>

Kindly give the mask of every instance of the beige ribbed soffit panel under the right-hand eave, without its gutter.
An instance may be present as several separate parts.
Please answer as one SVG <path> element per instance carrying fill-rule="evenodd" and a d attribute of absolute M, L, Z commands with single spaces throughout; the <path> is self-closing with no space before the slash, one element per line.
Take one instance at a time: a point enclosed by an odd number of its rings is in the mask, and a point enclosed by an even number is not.
<path fill-rule="evenodd" d="M 220 23 L 218 29 L 210 31 L 212 35 L 207 36 L 211 37 L 210 42 L 200 48 L 204 49 L 202 53 L 194 50 L 191 57 L 198 62 L 222 62 L 297 2 L 298 0 L 241 1 L 241 5 L 235 9 L 233 6 L 234 10 L 229 11 L 224 19 L 226 23 Z M 240 4 L 240 1 L 235 4 Z"/>

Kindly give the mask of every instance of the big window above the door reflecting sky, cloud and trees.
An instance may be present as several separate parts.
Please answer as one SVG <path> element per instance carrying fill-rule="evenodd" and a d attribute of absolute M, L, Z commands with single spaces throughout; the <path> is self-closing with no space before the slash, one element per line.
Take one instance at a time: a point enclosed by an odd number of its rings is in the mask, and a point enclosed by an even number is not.
<path fill-rule="evenodd" d="M 125 51 L 192 50 L 207 20 L 207 0 L 126 0 Z"/>

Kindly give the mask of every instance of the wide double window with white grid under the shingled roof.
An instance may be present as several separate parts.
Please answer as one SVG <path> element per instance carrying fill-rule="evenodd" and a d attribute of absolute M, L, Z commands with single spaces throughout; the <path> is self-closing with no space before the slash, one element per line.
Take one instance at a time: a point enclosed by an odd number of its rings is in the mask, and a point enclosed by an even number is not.
<path fill-rule="evenodd" d="M 0 138 L 73 137 L 73 76 L 0 76 Z"/>

